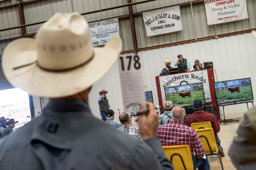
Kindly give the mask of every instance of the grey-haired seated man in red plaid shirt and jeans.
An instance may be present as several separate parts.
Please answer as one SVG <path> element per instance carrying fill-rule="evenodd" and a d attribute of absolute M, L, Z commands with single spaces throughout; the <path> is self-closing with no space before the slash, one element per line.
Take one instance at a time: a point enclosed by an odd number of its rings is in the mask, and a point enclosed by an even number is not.
<path fill-rule="evenodd" d="M 172 109 L 173 121 L 160 126 L 156 137 L 162 146 L 189 145 L 194 169 L 210 170 L 208 158 L 204 157 L 204 147 L 195 129 L 184 124 L 186 111 L 182 107 Z M 194 152 L 195 155 L 194 155 Z"/>

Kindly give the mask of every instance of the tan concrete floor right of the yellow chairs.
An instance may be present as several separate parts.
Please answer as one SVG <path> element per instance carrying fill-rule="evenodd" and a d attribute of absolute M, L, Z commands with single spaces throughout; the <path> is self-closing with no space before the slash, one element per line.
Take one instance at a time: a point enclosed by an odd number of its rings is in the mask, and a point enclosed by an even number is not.
<path fill-rule="evenodd" d="M 243 115 L 244 115 L 244 113 L 226 114 L 225 118 L 226 119 L 237 118 L 237 117 L 241 118 L 241 117 L 243 117 Z M 225 153 L 225 156 L 221 157 L 224 170 L 235 170 L 236 169 L 234 167 L 234 165 L 232 164 L 230 157 L 228 156 L 228 150 L 229 150 L 230 144 L 233 141 L 233 137 L 235 135 L 237 135 L 236 132 L 237 132 L 239 123 L 240 122 L 226 123 L 226 125 L 224 123 L 220 124 L 220 132 L 218 133 L 218 135 L 221 140 L 221 146 L 223 147 L 223 151 Z M 212 170 L 221 169 L 219 159 L 216 155 L 208 156 L 208 160 L 210 162 Z"/>

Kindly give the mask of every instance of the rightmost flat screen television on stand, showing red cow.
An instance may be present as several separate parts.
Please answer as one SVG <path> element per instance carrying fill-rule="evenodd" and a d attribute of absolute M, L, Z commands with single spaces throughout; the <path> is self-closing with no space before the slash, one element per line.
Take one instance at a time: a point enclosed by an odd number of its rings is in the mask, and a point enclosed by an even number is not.
<path fill-rule="evenodd" d="M 214 83 L 217 104 L 253 100 L 251 79 L 237 79 Z"/>

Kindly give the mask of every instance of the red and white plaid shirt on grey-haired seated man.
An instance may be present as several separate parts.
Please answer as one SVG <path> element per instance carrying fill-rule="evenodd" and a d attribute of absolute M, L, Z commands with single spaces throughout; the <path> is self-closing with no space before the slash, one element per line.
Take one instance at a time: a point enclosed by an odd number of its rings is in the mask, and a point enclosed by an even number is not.
<path fill-rule="evenodd" d="M 189 145 L 192 156 L 193 150 L 198 158 L 204 156 L 204 147 L 196 130 L 182 121 L 173 120 L 171 123 L 160 126 L 157 129 L 156 138 L 162 146 Z"/>

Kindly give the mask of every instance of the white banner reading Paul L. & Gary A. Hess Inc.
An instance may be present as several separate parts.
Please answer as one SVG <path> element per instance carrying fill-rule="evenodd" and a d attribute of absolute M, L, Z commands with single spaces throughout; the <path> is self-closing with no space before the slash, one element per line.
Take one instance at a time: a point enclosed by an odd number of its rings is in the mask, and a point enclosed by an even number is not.
<path fill-rule="evenodd" d="M 182 30 L 180 6 L 143 13 L 147 36 Z"/>

